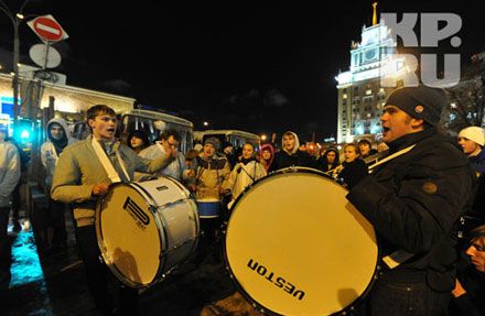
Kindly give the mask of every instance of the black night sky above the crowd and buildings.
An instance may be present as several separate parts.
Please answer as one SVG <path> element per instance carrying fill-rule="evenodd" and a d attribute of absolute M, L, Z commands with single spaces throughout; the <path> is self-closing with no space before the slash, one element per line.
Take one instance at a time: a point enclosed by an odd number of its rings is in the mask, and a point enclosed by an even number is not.
<path fill-rule="evenodd" d="M 18 2 L 6 1 L 13 10 Z M 195 130 L 206 120 L 214 129 L 294 130 L 304 140 L 335 135 L 334 77 L 348 69 L 351 41 L 370 25 L 371 1 L 262 2 L 31 0 L 24 11 L 51 13 L 68 33 L 54 45 L 63 57 L 54 70 L 68 85 L 133 97 L 193 121 Z M 462 61 L 485 51 L 482 10 L 465 1 L 419 2 L 381 1 L 378 9 L 459 13 Z M 21 62 L 33 65 L 28 52 L 39 40 L 26 25 L 20 31 Z M 1 14 L 7 69 L 12 34 Z"/>

